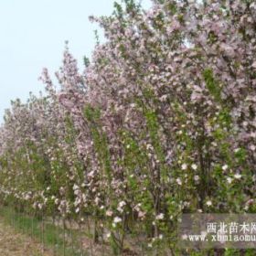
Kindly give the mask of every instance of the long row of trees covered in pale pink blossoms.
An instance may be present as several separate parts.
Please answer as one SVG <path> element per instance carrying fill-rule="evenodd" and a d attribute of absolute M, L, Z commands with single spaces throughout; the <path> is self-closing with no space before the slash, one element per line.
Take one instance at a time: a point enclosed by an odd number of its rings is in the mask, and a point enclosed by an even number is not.
<path fill-rule="evenodd" d="M 82 74 L 67 47 L 59 86 L 44 69 L 47 95 L 5 113 L 3 200 L 90 219 L 114 253 L 175 255 L 184 212 L 255 212 L 256 2 L 125 0 L 91 20 L 106 42 Z"/>

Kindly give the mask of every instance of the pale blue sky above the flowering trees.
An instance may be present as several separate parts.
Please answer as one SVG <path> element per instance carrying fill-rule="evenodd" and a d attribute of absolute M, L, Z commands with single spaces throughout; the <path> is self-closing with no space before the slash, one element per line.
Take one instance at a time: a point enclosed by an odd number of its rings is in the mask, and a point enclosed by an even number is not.
<path fill-rule="evenodd" d="M 144 7 L 150 0 L 143 0 Z M 114 0 L 0 0 L 0 123 L 10 101 L 38 93 L 42 68 L 61 65 L 65 40 L 82 67 L 91 57 L 94 30 L 88 16 L 112 14 Z M 100 34 L 101 35 L 101 34 Z M 102 38 L 101 38 L 102 40 Z"/>

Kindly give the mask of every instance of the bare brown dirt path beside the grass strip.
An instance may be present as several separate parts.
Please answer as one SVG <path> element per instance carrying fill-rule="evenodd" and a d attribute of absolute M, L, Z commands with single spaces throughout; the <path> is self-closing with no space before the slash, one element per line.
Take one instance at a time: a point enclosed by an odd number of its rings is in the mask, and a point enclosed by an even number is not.
<path fill-rule="evenodd" d="M 0 218 L 0 256 L 52 256 L 42 253 L 40 244 L 6 225 Z"/>

